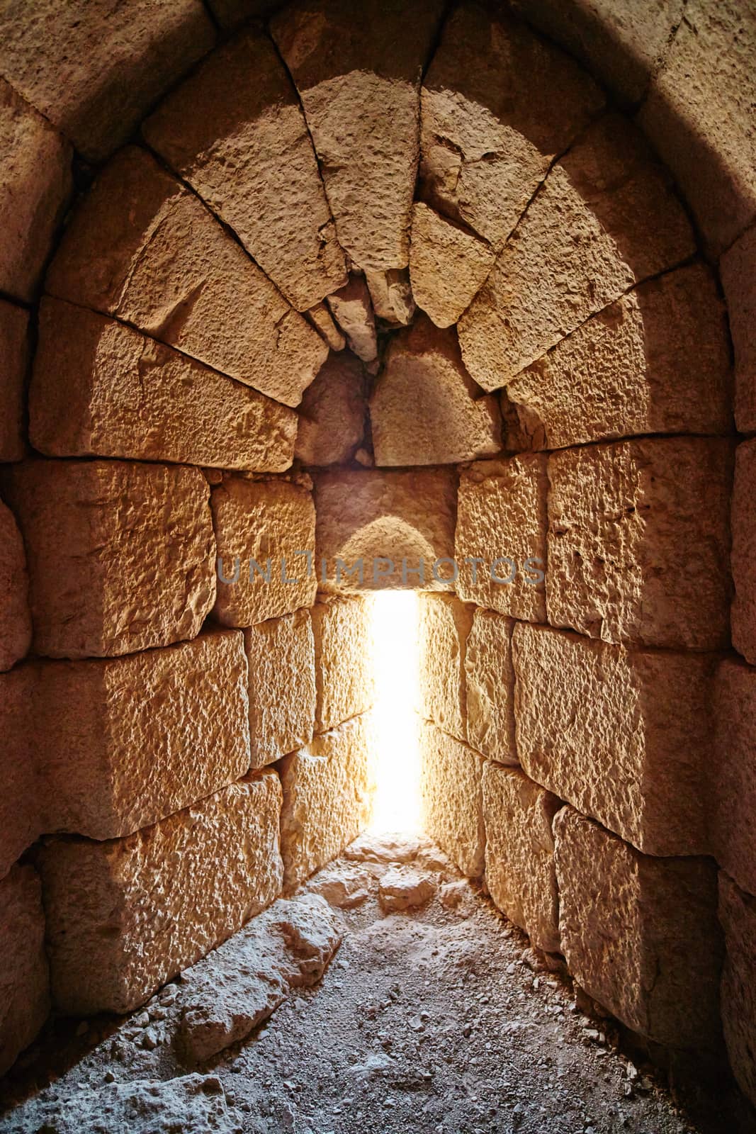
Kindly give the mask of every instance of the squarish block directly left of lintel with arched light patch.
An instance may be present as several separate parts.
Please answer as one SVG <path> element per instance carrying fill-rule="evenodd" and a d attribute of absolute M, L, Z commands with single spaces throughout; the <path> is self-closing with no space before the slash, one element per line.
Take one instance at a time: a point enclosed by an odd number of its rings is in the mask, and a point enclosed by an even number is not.
<path fill-rule="evenodd" d="M 288 481 L 226 477 L 211 497 L 223 626 L 254 626 L 315 601 L 315 508 L 308 489 Z"/>

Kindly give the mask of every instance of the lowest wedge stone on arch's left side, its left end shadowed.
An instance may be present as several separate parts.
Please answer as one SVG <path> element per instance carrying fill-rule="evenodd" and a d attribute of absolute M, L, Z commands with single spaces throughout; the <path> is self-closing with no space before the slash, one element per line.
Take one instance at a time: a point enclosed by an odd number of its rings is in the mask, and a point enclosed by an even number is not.
<path fill-rule="evenodd" d="M 94 312 L 44 299 L 29 437 L 51 456 L 283 472 L 297 415 Z"/>

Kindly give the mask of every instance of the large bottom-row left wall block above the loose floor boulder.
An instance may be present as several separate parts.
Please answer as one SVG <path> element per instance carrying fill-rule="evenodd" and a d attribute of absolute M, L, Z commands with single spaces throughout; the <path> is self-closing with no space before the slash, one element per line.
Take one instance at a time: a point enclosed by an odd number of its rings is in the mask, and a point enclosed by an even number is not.
<path fill-rule="evenodd" d="M 272 770 L 125 839 L 51 839 L 40 854 L 52 999 L 128 1012 L 281 890 Z"/>

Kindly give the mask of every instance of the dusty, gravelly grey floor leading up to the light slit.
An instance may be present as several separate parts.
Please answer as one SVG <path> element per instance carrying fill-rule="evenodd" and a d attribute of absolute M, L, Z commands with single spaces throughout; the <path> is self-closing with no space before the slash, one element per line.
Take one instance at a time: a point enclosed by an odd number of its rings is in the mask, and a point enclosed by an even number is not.
<path fill-rule="evenodd" d="M 438 852 L 411 864 L 435 889 L 421 908 L 384 913 L 387 865 L 345 858 L 318 875 L 316 888 L 355 903 L 337 915 L 341 947 L 320 984 L 292 991 L 244 1042 L 181 1065 L 189 972 L 127 1019 L 51 1025 L 6 1084 L 0 1131 L 754 1131 L 724 1078 L 673 1101 Z"/>

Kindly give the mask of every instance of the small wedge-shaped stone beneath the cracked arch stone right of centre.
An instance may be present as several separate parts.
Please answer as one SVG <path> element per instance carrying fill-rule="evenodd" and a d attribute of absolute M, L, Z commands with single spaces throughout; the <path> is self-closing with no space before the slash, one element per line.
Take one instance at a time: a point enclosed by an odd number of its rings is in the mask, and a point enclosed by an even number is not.
<path fill-rule="evenodd" d="M 493 268 L 484 240 L 418 201 L 413 208 L 409 279 L 413 295 L 436 327 L 451 327 Z"/>

